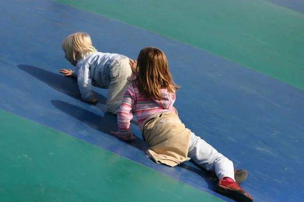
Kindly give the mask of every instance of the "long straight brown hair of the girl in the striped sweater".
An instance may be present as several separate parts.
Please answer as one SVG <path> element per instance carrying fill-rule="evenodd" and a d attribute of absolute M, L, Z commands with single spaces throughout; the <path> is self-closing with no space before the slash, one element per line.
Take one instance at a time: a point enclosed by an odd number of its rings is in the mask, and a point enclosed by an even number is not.
<path fill-rule="evenodd" d="M 143 97 L 162 99 L 160 89 L 167 89 L 174 93 L 180 88 L 172 79 L 168 61 L 161 49 L 145 47 L 141 49 L 137 58 L 136 79 L 139 92 Z"/>

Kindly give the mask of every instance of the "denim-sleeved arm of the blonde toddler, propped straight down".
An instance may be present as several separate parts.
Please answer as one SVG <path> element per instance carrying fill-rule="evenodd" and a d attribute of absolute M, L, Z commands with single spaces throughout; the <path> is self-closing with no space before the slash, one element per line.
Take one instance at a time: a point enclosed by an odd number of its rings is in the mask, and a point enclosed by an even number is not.
<path fill-rule="evenodd" d="M 94 98 L 92 92 L 92 79 L 90 77 L 89 66 L 86 64 L 80 64 L 77 66 L 77 71 L 74 75 L 77 77 L 81 98 L 85 102 L 95 103 L 97 99 Z"/>

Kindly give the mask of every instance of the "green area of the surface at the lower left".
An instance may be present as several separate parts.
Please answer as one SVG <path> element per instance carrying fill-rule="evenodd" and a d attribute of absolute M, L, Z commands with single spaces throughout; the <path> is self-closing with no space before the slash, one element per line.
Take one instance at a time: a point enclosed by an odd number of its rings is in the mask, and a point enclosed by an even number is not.
<path fill-rule="evenodd" d="M 8 112 L 0 123 L 0 201 L 222 201 Z"/>

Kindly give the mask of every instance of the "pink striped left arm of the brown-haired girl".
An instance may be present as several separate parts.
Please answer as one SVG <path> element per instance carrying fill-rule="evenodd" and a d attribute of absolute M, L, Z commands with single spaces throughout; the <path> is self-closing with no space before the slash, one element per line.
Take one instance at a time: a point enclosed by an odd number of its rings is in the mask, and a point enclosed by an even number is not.
<path fill-rule="evenodd" d="M 135 92 L 132 85 L 127 88 L 122 104 L 117 114 L 118 137 L 125 141 L 135 139 L 131 132 L 131 120 L 133 119 Z"/>

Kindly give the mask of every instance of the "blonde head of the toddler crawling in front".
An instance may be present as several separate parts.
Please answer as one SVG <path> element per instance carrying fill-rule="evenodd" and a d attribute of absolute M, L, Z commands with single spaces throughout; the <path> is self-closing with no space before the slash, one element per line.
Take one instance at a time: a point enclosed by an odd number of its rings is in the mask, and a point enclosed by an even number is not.
<path fill-rule="evenodd" d="M 66 59 L 71 64 L 97 52 L 97 49 L 92 45 L 91 37 L 85 32 L 77 32 L 65 37 L 61 47 L 65 52 Z"/>

